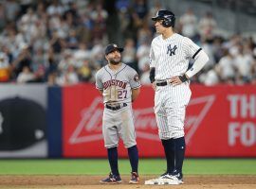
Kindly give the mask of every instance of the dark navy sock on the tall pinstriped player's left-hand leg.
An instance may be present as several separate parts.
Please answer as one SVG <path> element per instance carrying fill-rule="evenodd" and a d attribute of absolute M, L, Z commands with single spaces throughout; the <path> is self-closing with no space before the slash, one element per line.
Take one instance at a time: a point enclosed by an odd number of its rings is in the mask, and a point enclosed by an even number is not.
<path fill-rule="evenodd" d="M 175 167 L 174 139 L 162 140 L 165 158 L 167 163 L 167 172 L 173 173 Z"/>

